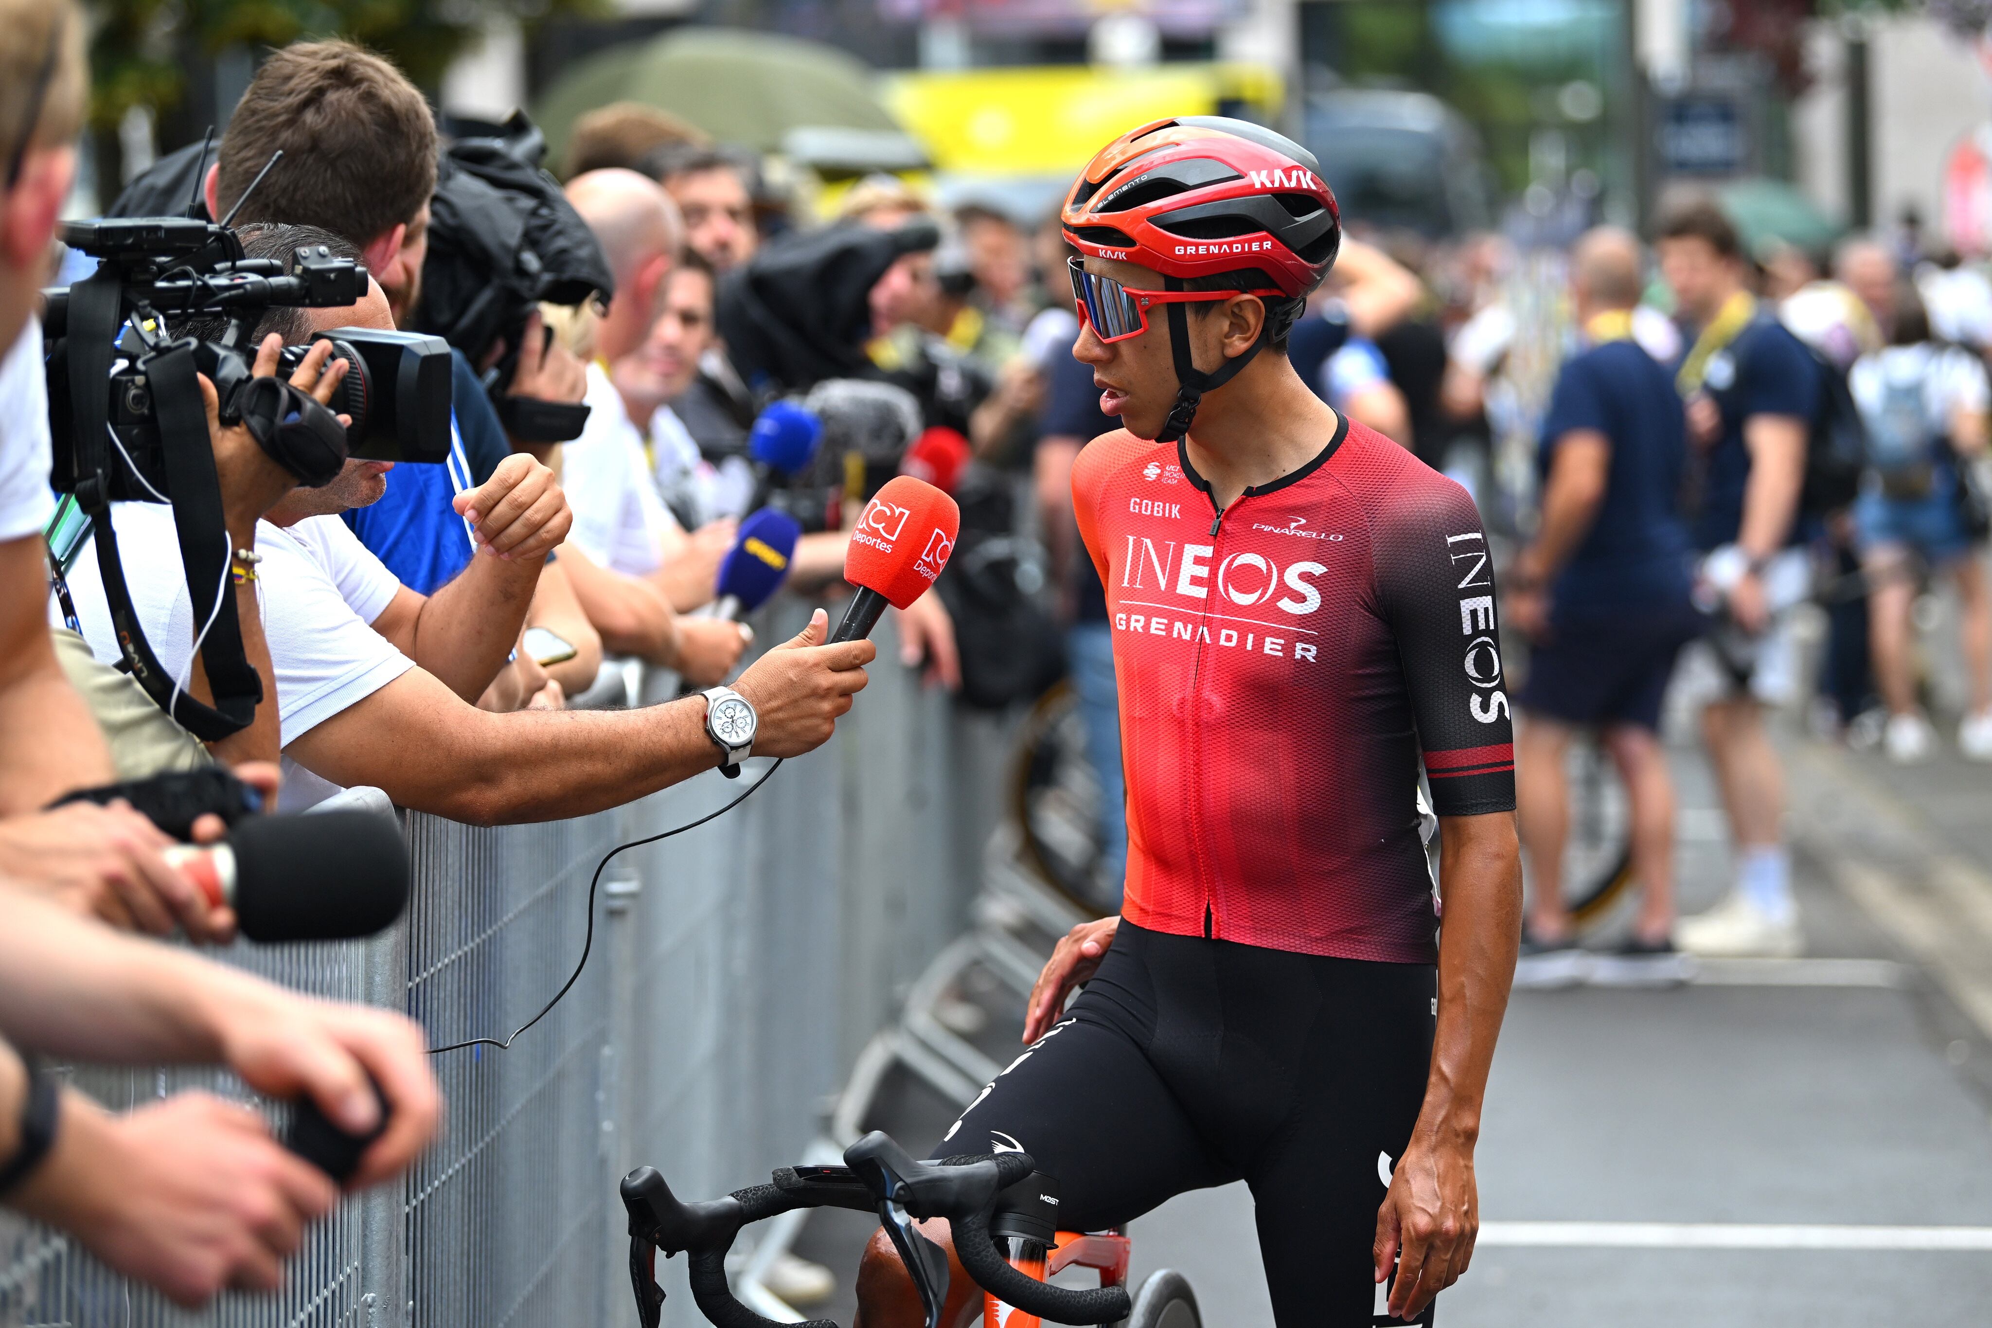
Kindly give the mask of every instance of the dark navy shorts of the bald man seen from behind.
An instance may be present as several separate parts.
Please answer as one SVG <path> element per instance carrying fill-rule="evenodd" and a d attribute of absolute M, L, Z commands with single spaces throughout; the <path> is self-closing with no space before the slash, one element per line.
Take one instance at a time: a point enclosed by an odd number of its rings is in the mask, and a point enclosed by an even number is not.
<path fill-rule="evenodd" d="M 1643 617 L 1570 617 L 1530 649 L 1516 705 L 1566 725 L 1659 733 L 1659 707 L 1681 647 L 1705 621 L 1687 603 Z"/>

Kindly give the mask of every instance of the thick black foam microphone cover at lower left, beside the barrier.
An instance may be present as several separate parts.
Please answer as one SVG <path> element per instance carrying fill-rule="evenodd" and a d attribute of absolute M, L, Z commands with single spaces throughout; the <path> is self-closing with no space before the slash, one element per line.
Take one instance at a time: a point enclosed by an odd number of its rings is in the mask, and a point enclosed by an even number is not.
<path fill-rule="evenodd" d="M 373 936 L 408 902 L 408 846 L 376 812 L 251 816 L 235 850 L 235 916 L 257 942 Z"/>

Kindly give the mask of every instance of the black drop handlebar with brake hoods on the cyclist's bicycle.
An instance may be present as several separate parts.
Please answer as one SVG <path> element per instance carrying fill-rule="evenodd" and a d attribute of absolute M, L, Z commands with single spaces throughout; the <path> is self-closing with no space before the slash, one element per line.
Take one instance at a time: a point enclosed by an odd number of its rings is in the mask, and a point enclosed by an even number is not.
<path fill-rule="evenodd" d="M 1008 1264 L 990 1234 L 996 1197 L 1032 1173 L 1026 1153 L 914 1161 L 888 1135 L 872 1131 L 845 1151 L 845 1167 L 781 1167 L 773 1185 L 749 1185 L 725 1199 L 683 1203 L 651 1167 L 637 1167 L 622 1183 L 629 1211 L 629 1280 L 635 1286 L 643 1328 L 657 1328 L 663 1290 L 655 1258 L 685 1252 L 691 1298 L 717 1328 L 783 1328 L 735 1300 L 727 1282 L 727 1250 L 741 1226 L 791 1209 L 853 1209 L 878 1213 L 926 1306 L 928 1326 L 946 1298 L 948 1264 L 940 1248 L 912 1228 L 910 1218 L 944 1217 L 952 1222 L 962 1268 L 984 1290 L 1026 1314 L 1058 1324 L 1102 1324 L 1127 1318 L 1127 1290 L 1068 1290 L 1038 1282 Z M 938 1286 L 936 1286 L 938 1282 Z M 809 1320 L 803 1328 L 837 1328 Z"/>

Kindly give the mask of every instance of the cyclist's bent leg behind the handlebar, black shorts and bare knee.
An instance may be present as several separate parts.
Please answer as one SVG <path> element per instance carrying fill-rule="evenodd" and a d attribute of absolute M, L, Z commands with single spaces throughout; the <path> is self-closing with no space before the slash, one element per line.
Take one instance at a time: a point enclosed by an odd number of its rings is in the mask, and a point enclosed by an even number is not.
<path fill-rule="evenodd" d="M 1022 1149 L 1058 1181 L 1060 1226 L 1098 1230 L 1131 1220 L 1171 1195 L 1237 1179 L 1203 1145 L 1147 1057 L 1153 988 L 1143 940 L 1123 924 L 1100 974 L 1050 1033 L 1008 1065 L 928 1157 Z M 922 1230 L 948 1246 L 952 1290 L 944 1324 L 980 1304 L 954 1260 L 944 1222 Z M 920 1322 L 884 1232 L 859 1266 L 859 1328 Z"/>

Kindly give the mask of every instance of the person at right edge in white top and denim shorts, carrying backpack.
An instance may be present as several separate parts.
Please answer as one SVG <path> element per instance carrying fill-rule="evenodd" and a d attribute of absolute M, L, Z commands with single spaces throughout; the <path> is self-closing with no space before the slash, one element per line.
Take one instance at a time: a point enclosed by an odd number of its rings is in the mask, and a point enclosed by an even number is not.
<path fill-rule="evenodd" d="M 1888 325 L 1888 346 L 1863 354 L 1847 376 L 1868 434 L 1870 476 L 1855 502 L 1855 530 L 1868 583 L 1874 679 L 1888 707 L 1882 739 L 1888 757 L 1902 763 L 1924 761 L 1934 747 L 1930 721 L 1916 707 L 1910 659 L 1910 609 L 1922 567 L 1950 575 L 1958 587 L 1970 685 L 1958 749 L 1972 761 L 1992 761 L 1992 603 L 1978 557 L 1982 536 L 1958 506 L 1958 470 L 1986 448 L 1986 370 L 1970 350 L 1930 332 L 1912 291 L 1890 285 L 1884 299 L 1874 317 Z"/>

